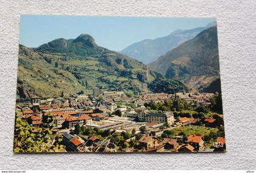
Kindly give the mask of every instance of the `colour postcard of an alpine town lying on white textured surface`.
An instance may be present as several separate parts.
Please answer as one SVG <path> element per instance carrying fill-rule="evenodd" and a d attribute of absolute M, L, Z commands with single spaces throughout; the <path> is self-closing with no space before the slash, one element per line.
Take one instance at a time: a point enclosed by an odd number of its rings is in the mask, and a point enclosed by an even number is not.
<path fill-rule="evenodd" d="M 225 151 L 215 18 L 21 15 L 13 152 Z"/>

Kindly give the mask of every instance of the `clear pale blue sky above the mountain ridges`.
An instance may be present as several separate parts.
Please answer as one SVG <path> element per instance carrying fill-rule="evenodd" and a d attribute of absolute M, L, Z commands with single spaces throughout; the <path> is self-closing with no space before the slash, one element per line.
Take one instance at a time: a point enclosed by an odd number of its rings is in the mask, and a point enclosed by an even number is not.
<path fill-rule="evenodd" d="M 121 51 L 134 42 L 169 35 L 177 29 L 204 27 L 215 18 L 21 15 L 20 44 L 38 47 L 57 38 L 93 36 L 96 44 Z"/>

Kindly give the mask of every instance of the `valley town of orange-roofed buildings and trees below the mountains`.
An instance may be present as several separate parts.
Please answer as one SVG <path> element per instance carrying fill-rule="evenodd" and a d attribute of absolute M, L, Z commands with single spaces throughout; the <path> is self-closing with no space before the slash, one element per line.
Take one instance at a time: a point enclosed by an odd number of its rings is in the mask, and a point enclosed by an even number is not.
<path fill-rule="evenodd" d="M 15 152 L 222 152 L 218 93 L 141 93 L 94 87 L 16 102 Z M 18 123 L 17 123 L 18 122 Z M 24 127 L 25 126 L 25 127 Z M 22 138 L 30 138 L 19 143 Z M 38 140 L 48 150 L 33 148 Z"/>

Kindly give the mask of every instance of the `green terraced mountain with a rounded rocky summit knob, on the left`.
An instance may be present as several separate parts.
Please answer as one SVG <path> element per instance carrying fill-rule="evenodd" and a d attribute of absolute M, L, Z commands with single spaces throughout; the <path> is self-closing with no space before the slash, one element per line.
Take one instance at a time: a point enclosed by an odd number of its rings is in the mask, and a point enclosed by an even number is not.
<path fill-rule="evenodd" d="M 37 48 L 20 45 L 17 98 L 59 97 L 99 87 L 134 94 L 162 78 L 139 61 L 96 44 L 90 35 L 55 39 Z"/>

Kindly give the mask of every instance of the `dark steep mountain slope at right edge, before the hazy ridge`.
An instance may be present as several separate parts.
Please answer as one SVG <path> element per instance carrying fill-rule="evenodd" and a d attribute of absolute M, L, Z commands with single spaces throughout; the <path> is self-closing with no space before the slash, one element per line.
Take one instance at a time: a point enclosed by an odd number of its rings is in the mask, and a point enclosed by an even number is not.
<path fill-rule="evenodd" d="M 183 42 L 149 64 L 166 78 L 175 78 L 190 87 L 204 86 L 219 78 L 218 36 L 216 26 Z"/>

